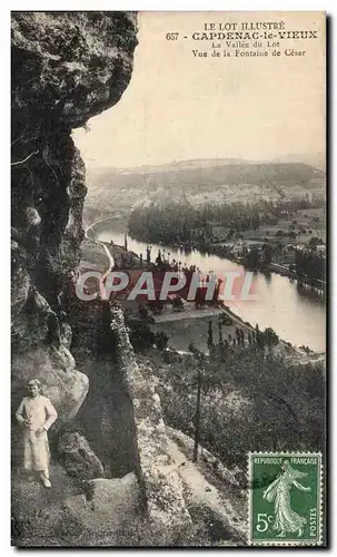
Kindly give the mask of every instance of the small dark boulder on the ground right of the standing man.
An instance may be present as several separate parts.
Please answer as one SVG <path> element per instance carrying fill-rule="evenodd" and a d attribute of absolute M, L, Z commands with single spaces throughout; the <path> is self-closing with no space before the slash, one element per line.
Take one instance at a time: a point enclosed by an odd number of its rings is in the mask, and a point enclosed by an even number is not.
<path fill-rule="evenodd" d="M 87 439 L 78 432 L 63 433 L 58 444 L 62 466 L 69 476 L 90 480 L 105 475 L 99 458 L 90 449 Z"/>

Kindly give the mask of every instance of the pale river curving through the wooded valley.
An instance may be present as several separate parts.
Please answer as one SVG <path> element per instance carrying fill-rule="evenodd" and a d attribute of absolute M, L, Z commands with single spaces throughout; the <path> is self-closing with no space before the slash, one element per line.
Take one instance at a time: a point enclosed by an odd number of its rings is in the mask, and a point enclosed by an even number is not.
<path fill-rule="evenodd" d="M 107 225 L 92 232 L 97 240 L 123 245 L 125 234 L 113 227 L 111 221 Z M 204 254 L 194 250 L 184 252 L 158 244 L 151 244 L 151 258 L 156 258 L 158 250 L 166 250 L 170 253 L 170 258 L 176 258 L 189 265 L 196 265 L 202 272 L 212 270 L 217 274 L 224 271 L 242 271 L 242 266 L 237 263 L 218 257 L 217 255 Z M 142 253 L 146 258 L 145 242 L 139 242 L 128 236 L 128 250 L 137 254 Z M 326 309 L 321 297 L 309 290 L 298 287 L 296 281 L 290 281 L 285 276 L 271 273 L 268 277 L 262 273 L 257 273 L 255 277 L 256 301 L 230 302 L 229 307 L 244 321 L 249 321 L 252 325 L 258 323 L 260 330 L 267 326 L 272 328 L 284 340 L 297 346 L 309 346 L 316 352 L 326 350 Z M 226 302 L 227 303 L 227 302 Z"/>

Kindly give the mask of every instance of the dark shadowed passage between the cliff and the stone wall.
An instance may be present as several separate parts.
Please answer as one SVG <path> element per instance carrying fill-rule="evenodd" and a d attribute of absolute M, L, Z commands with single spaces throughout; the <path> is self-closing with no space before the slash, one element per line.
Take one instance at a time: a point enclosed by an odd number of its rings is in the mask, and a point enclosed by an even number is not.
<path fill-rule="evenodd" d="M 93 311 L 92 311 L 93 310 Z M 71 352 L 77 369 L 89 378 L 88 394 L 71 423 L 100 459 L 107 478 L 135 471 L 136 440 L 133 410 L 116 360 L 116 339 L 110 330 L 109 307 L 101 301 L 86 304 L 73 328 Z M 90 348 L 83 358 L 83 346 Z"/>

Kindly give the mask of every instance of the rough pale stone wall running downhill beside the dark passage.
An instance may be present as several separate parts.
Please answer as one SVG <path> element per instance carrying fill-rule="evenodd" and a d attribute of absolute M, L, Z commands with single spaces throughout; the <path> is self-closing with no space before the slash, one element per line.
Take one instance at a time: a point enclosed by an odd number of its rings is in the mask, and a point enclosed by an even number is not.
<path fill-rule="evenodd" d="M 145 380 L 136 362 L 123 323 L 122 311 L 111 307 L 111 330 L 126 389 L 133 408 L 137 476 L 150 521 L 172 536 L 188 528 L 182 483 L 175 470 L 169 440 L 162 420 L 159 395 L 155 385 Z"/>

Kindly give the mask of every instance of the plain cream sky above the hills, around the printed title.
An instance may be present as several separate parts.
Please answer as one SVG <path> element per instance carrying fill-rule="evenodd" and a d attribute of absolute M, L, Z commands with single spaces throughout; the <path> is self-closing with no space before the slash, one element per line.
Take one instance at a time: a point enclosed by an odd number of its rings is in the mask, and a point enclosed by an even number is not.
<path fill-rule="evenodd" d="M 89 120 L 90 131 L 73 131 L 87 166 L 324 153 L 324 17 L 257 13 L 141 12 L 130 85 L 115 107 Z M 192 55 L 211 46 L 190 38 L 205 22 L 279 20 L 287 30 L 318 31 L 318 39 L 288 41 L 305 57 L 285 57 L 286 43 L 278 58 Z M 167 32 L 179 32 L 179 40 L 167 40 Z"/>

